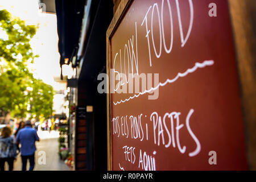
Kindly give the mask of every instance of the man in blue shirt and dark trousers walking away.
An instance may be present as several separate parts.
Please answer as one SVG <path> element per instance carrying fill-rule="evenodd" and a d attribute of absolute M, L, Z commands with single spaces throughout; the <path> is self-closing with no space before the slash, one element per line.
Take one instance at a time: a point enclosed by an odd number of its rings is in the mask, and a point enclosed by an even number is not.
<path fill-rule="evenodd" d="M 35 166 L 35 142 L 39 141 L 38 134 L 35 129 L 32 129 L 30 121 L 26 121 L 24 129 L 19 130 L 16 137 L 16 142 L 21 144 L 20 153 L 22 157 L 22 171 L 26 171 L 27 160 L 30 160 L 30 171 L 33 171 Z"/>

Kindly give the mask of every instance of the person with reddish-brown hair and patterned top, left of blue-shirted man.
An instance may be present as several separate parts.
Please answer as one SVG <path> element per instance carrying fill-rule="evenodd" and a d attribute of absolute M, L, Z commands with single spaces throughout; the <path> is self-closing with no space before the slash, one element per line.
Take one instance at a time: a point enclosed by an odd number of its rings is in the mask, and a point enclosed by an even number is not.
<path fill-rule="evenodd" d="M 0 136 L 0 171 L 5 171 L 5 162 L 9 165 L 9 171 L 13 171 L 13 163 L 16 158 L 16 144 L 11 136 L 10 127 L 3 127 Z"/>

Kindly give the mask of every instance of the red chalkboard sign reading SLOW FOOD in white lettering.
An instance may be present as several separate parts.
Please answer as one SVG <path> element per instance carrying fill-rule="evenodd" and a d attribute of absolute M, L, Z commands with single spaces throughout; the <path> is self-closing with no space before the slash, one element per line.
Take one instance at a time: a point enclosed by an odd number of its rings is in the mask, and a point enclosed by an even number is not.
<path fill-rule="evenodd" d="M 247 169 L 228 1 L 122 1 L 107 36 L 109 169 Z"/>

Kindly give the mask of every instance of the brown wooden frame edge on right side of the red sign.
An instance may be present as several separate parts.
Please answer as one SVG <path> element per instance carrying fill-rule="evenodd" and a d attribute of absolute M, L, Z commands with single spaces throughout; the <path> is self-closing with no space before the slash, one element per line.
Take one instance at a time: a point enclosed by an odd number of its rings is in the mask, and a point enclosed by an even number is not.
<path fill-rule="evenodd" d="M 228 2 L 240 81 L 247 164 L 249 170 L 256 170 L 256 80 L 253 76 L 256 38 L 253 32 L 255 20 L 250 18 L 255 15 L 256 4 L 254 0 L 228 0 Z"/>

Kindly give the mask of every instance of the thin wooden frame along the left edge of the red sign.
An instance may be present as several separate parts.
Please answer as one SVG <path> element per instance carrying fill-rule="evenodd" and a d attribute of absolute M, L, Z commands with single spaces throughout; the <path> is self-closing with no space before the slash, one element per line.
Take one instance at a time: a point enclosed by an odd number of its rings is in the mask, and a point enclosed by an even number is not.
<path fill-rule="evenodd" d="M 112 114 L 112 108 L 111 108 L 111 94 L 110 94 L 110 59 L 111 59 L 111 38 L 117 29 L 119 23 L 121 22 L 123 16 L 126 13 L 126 10 L 130 6 L 131 2 L 133 0 L 122 0 L 119 3 L 118 9 L 114 14 L 114 17 L 112 19 L 112 22 L 109 25 L 109 28 L 106 32 L 106 73 L 109 76 L 109 79 L 107 80 L 107 132 L 108 132 L 108 170 L 112 170 L 112 127 L 111 127 L 111 114 Z"/>

